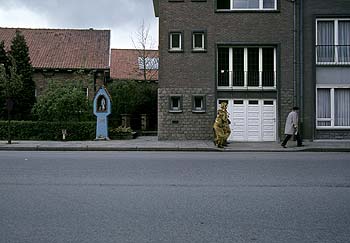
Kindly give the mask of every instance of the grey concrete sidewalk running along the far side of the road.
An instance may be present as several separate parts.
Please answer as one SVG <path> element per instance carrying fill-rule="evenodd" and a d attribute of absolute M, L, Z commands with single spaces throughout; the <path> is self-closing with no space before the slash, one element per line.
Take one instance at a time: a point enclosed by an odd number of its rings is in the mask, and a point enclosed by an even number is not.
<path fill-rule="evenodd" d="M 289 141 L 287 148 L 277 142 L 231 142 L 219 149 L 212 141 L 158 141 L 155 136 L 141 136 L 131 140 L 109 141 L 0 141 L 0 150 L 5 151 L 202 151 L 202 152 L 350 152 L 350 140 L 320 140 L 304 142 L 297 147 Z"/>

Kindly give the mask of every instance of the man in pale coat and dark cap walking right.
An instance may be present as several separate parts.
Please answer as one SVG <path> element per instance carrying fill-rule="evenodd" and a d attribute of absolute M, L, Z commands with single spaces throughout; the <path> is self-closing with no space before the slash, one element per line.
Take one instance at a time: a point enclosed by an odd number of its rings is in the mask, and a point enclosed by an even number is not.
<path fill-rule="evenodd" d="M 292 111 L 288 114 L 287 120 L 286 120 L 286 126 L 284 129 L 284 134 L 286 137 L 284 138 L 281 146 L 283 148 L 286 148 L 288 140 L 295 135 L 295 138 L 297 140 L 297 146 L 301 147 L 303 146 L 303 142 L 301 141 L 301 137 L 298 130 L 298 110 L 299 108 L 297 106 L 293 107 Z"/>

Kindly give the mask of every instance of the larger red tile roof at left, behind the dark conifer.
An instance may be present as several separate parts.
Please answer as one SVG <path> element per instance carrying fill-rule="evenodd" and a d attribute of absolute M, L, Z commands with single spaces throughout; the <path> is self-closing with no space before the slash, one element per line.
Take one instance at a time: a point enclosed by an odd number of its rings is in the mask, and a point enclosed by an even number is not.
<path fill-rule="evenodd" d="M 6 49 L 19 30 L 34 68 L 108 69 L 110 30 L 0 28 Z"/>

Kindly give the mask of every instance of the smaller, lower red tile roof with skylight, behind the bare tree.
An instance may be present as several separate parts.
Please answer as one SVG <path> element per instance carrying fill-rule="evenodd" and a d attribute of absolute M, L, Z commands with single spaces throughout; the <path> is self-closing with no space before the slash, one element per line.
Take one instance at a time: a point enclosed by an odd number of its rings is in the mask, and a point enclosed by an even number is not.
<path fill-rule="evenodd" d="M 112 49 L 111 51 L 111 79 L 143 80 L 143 70 L 140 70 L 138 57 L 141 50 Z M 146 50 L 146 56 L 158 58 L 158 50 Z M 147 80 L 158 80 L 158 70 L 148 70 Z"/>

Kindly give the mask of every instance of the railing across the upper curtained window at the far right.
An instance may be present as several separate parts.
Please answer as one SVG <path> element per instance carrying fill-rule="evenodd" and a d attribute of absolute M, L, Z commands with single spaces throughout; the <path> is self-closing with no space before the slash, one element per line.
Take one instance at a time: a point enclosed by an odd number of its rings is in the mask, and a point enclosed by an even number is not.
<path fill-rule="evenodd" d="M 316 62 L 321 65 L 348 65 L 350 64 L 350 45 L 318 45 Z"/>

